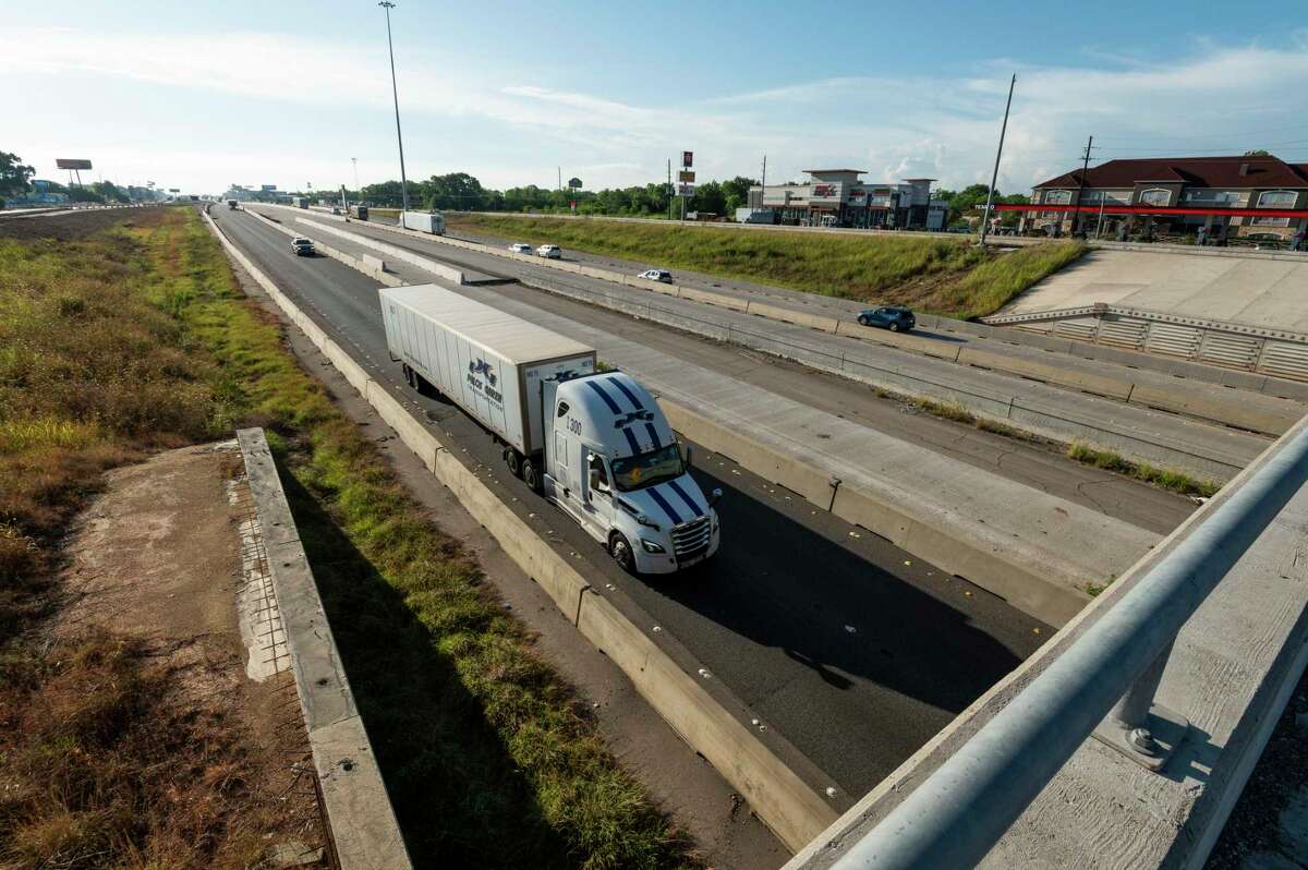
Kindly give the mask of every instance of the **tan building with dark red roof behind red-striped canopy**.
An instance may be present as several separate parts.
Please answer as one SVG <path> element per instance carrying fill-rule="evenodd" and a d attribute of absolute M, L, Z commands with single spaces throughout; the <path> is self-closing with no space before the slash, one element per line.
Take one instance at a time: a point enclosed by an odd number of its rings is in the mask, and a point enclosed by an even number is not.
<path fill-rule="evenodd" d="M 1288 238 L 1308 225 L 1308 164 L 1279 157 L 1110 160 L 1035 186 L 1020 229 L 1090 235 L 1196 234 Z"/>

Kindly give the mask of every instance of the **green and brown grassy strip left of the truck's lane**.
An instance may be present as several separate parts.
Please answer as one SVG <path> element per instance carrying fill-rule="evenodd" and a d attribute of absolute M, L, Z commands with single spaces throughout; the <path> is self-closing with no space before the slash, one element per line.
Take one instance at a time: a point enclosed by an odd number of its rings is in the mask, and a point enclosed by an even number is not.
<path fill-rule="evenodd" d="M 156 679 L 131 655 L 131 638 L 94 641 L 101 652 L 82 670 L 76 654 L 43 653 L 17 629 L 48 600 L 39 578 L 106 467 L 263 425 L 416 862 L 695 863 L 459 542 L 425 518 L 373 442 L 289 356 L 273 319 L 241 294 L 194 212 L 140 215 L 58 245 L 0 238 L 0 281 L 4 662 L 24 675 L 0 688 L 0 747 L 17 778 L 0 793 L 4 861 L 44 866 L 24 849 L 38 835 L 50 848 L 63 831 L 101 844 L 105 866 L 241 865 L 220 860 L 241 854 L 239 789 L 225 806 L 217 793 L 196 794 L 215 798 L 204 836 L 183 839 L 194 849 L 184 861 L 167 850 L 184 831 L 170 827 L 178 814 L 149 788 L 158 754 L 132 739 L 169 721 L 150 692 L 132 692 L 112 716 L 17 727 L 25 720 L 14 710 L 67 697 L 69 682 L 102 683 L 94 667 L 129 667 L 103 678 L 114 686 Z M 114 649 L 126 658 L 106 659 Z M 183 761 L 186 746 L 175 750 Z M 65 768 L 102 763 L 72 788 L 41 778 L 38 763 L 55 757 Z"/>

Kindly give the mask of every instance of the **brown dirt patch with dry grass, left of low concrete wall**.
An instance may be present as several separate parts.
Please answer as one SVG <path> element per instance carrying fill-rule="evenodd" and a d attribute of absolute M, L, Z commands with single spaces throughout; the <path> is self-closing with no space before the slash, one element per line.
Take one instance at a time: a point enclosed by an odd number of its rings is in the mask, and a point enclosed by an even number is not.
<path fill-rule="evenodd" d="M 246 676 L 242 481 L 234 442 L 169 450 L 69 530 L 47 679 L 3 693 L 5 866 L 326 866 L 294 680 Z"/>

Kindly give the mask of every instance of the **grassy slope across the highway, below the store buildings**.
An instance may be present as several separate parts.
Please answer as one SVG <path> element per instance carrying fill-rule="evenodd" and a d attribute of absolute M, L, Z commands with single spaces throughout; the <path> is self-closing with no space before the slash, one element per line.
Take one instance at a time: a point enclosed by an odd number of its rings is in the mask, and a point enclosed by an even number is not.
<path fill-rule="evenodd" d="M 985 317 L 1079 258 L 1086 246 L 1050 242 L 981 250 L 939 235 L 837 235 L 616 221 L 460 215 L 450 226 L 514 241 L 607 254 L 848 300 L 908 305 L 956 318 Z"/>

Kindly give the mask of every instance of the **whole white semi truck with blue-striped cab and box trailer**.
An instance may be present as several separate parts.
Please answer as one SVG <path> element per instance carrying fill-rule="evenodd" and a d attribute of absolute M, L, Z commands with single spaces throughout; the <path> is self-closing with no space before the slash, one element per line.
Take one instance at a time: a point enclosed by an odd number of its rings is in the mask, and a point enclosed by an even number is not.
<path fill-rule="evenodd" d="M 576 519 L 625 570 L 671 573 L 717 552 L 706 498 L 658 403 L 595 351 L 437 285 L 381 288 L 408 383 L 458 404 L 509 470 Z M 687 451 L 689 454 L 689 451 Z"/>

